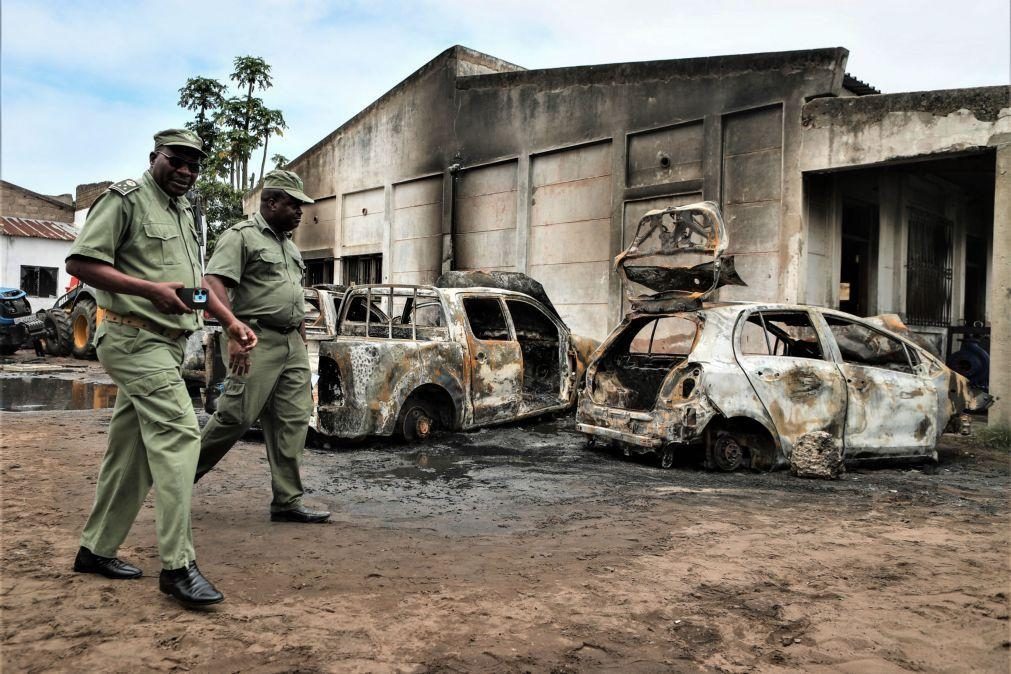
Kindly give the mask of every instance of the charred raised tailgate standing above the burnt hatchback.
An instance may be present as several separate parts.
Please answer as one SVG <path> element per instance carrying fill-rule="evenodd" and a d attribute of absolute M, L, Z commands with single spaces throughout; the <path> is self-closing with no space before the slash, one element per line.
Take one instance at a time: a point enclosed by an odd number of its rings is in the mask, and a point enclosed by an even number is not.
<path fill-rule="evenodd" d="M 651 210 L 629 247 L 615 258 L 625 293 L 637 311 L 696 305 L 722 286 L 747 285 L 727 250 L 727 228 L 712 201 Z"/>

